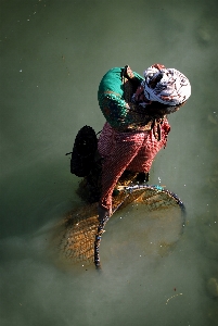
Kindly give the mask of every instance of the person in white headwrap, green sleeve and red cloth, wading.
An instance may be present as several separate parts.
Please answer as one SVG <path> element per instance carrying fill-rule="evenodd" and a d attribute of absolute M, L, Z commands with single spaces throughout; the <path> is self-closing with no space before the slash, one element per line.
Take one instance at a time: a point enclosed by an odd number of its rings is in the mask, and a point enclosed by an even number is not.
<path fill-rule="evenodd" d="M 190 96 L 189 79 L 158 63 L 144 71 L 144 78 L 128 65 L 103 76 L 98 91 L 106 120 L 98 141 L 102 158 L 100 221 L 112 215 L 112 195 L 125 171 L 148 176 L 155 155 L 166 147 L 167 115 Z"/>

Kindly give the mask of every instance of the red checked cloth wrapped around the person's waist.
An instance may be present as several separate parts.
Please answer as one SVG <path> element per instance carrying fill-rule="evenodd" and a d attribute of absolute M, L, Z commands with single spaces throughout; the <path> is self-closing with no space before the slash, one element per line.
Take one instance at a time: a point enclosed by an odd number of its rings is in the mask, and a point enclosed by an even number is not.
<path fill-rule="evenodd" d="M 153 129 L 119 133 L 105 123 L 98 142 L 99 152 L 104 158 L 100 205 L 111 211 L 113 190 L 125 170 L 150 171 L 155 155 L 166 146 L 169 131 L 167 118 L 161 124 L 159 141 L 155 138 Z"/>

